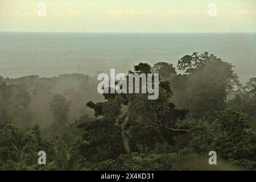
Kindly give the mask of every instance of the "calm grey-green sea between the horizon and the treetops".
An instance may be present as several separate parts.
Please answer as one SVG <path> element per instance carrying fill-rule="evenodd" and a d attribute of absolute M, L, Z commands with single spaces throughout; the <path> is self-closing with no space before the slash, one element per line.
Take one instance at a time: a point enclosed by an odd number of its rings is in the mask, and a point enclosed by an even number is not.
<path fill-rule="evenodd" d="M 96 76 L 110 68 L 126 73 L 134 64 L 177 61 L 193 52 L 213 53 L 232 63 L 241 82 L 255 77 L 255 33 L 118 34 L 0 32 L 0 75 Z"/>

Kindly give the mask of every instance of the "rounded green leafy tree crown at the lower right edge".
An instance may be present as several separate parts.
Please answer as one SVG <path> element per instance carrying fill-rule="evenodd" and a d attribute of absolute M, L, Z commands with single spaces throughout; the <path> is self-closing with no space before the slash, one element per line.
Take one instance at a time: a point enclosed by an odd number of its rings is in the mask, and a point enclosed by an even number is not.
<path fill-rule="evenodd" d="M 199 154 L 216 150 L 222 159 L 254 169 L 256 133 L 249 122 L 250 118 L 245 113 L 231 109 L 221 111 L 214 122 L 197 125 L 190 146 Z"/>

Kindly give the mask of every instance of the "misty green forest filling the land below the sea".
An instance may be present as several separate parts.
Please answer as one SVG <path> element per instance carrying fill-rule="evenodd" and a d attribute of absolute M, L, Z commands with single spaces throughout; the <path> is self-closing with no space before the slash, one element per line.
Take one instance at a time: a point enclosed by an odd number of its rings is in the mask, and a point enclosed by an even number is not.
<path fill-rule="evenodd" d="M 208 52 L 177 63 L 134 65 L 159 73 L 152 101 L 99 94 L 97 77 L 81 73 L 0 77 L 0 169 L 255 169 L 256 78 L 241 84 L 232 64 Z M 218 166 L 208 164 L 212 150 Z"/>

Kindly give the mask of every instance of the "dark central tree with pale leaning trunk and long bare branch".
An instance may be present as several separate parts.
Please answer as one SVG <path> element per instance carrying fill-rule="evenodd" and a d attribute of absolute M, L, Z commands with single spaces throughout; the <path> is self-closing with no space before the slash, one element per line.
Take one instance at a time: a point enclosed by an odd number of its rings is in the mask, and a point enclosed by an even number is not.
<path fill-rule="evenodd" d="M 129 72 L 151 73 L 151 67 L 139 63 L 134 66 L 134 72 Z M 120 133 L 119 137 L 122 138 L 128 156 L 132 151 L 145 152 L 154 148 L 156 143 L 171 143 L 172 137 L 189 131 L 185 126 L 187 121 L 184 121 L 188 110 L 175 109 L 175 105 L 170 102 L 170 82 L 160 82 L 159 86 L 159 97 L 156 100 L 148 100 L 148 93 L 104 93 L 105 102 L 94 104 L 90 101 L 86 104 L 94 109 L 96 122 L 107 121 L 105 125 L 118 129 L 115 131 Z M 94 138 L 99 135 L 96 134 Z"/>

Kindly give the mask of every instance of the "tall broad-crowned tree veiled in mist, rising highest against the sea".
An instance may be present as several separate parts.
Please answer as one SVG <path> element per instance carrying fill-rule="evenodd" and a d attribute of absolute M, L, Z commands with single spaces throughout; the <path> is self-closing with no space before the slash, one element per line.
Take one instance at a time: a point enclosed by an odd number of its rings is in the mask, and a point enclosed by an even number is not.
<path fill-rule="evenodd" d="M 232 64 L 208 52 L 201 55 L 194 52 L 181 57 L 177 67 L 185 71 L 182 79 L 177 76 L 172 80 L 179 106 L 198 116 L 210 116 L 225 109 L 226 96 L 238 84 Z M 183 86 L 180 86 L 180 80 L 184 82 Z"/>

